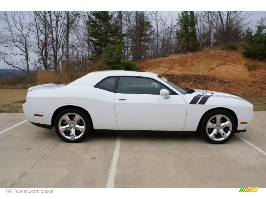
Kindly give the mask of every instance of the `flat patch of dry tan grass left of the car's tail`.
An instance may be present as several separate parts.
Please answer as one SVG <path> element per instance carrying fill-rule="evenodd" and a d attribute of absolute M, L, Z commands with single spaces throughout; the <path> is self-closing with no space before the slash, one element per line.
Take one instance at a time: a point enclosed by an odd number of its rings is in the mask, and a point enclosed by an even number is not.
<path fill-rule="evenodd" d="M 0 113 L 23 113 L 28 89 L 0 89 Z"/>

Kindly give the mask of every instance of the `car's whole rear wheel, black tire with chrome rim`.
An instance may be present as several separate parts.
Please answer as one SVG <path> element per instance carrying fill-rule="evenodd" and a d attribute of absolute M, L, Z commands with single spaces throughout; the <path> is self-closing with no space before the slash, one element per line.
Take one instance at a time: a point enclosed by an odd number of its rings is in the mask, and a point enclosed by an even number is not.
<path fill-rule="evenodd" d="M 76 143 L 84 140 L 90 129 L 90 120 L 80 110 L 64 110 L 55 119 L 55 131 L 66 142 Z"/>

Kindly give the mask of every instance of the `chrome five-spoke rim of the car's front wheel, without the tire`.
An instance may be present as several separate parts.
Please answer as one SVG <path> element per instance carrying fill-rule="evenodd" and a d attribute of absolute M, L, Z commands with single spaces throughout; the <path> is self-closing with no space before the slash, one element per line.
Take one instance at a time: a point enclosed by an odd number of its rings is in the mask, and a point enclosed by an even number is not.
<path fill-rule="evenodd" d="M 215 115 L 207 122 L 206 132 L 214 141 L 225 140 L 232 132 L 232 122 L 225 115 Z"/>

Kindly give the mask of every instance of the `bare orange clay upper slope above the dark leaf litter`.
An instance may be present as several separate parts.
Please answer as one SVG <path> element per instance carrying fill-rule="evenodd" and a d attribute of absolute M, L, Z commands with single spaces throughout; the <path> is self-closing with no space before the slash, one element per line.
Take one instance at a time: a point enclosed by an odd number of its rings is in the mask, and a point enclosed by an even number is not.
<path fill-rule="evenodd" d="M 258 63 L 256 71 L 247 66 L 254 60 L 244 57 L 240 51 L 222 51 L 220 48 L 205 48 L 196 53 L 174 54 L 139 63 L 141 70 L 158 74 L 211 75 L 224 80 L 265 80 L 266 64 Z"/>

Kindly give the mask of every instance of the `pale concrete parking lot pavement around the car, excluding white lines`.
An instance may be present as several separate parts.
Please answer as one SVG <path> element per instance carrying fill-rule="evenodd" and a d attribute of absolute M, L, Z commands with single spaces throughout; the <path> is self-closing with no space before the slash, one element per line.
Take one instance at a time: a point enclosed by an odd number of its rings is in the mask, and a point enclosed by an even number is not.
<path fill-rule="evenodd" d="M 264 152 L 266 112 L 237 133 Z M 0 132 L 25 120 L 0 113 Z M 61 141 L 20 124 L 0 135 L 0 188 L 105 188 L 117 135 Z M 266 188 L 266 156 L 237 136 L 213 145 L 199 135 L 122 135 L 114 188 Z"/>

